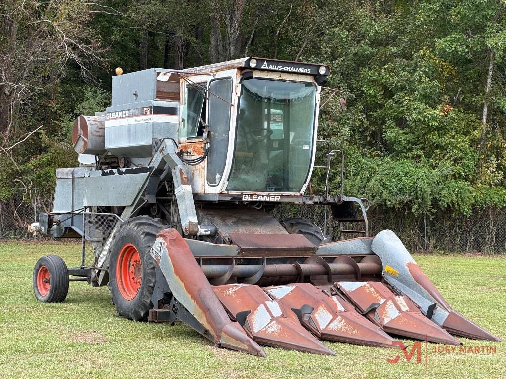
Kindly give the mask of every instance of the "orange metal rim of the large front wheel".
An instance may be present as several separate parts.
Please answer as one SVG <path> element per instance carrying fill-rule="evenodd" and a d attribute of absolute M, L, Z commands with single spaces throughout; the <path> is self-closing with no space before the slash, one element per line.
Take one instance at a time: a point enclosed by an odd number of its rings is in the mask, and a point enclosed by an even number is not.
<path fill-rule="evenodd" d="M 132 244 L 124 245 L 116 262 L 116 282 L 119 293 L 126 300 L 134 299 L 139 293 L 142 282 L 142 262 L 137 248 Z"/>

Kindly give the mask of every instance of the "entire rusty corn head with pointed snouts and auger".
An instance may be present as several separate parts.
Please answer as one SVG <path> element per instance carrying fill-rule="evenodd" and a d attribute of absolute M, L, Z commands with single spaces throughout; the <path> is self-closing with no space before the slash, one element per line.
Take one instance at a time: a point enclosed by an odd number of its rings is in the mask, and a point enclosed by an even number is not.
<path fill-rule="evenodd" d="M 264 253 L 266 240 L 274 241 L 275 235 L 265 237 L 258 244 Z M 249 255 L 256 255 L 255 238 L 235 236 L 239 243 L 236 251 L 241 251 L 243 243 Z M 286 247 L 285 239 L 279 244 Z M 318 339 L 384 348 L 397 347 L 390 335 L 449 345 L 460 343 L 449 333 L 498 340 L 461 315 L 459 323 L 455 322 L 458 314 L 388 230 L 373 239 L 324 244 L 293 263 L 267 263 L 264 257 L 262 264 L 238 264 L 239 259 L 233 258 L 227 266 L 213 257 L 214 264 L 203 264 L 204 259 L 195 259 L 190 246 L 201 251 L 200 245 L 183 239 L 174 229 L 158 234 L 151 254 L 172 300 L 170 306 L 152 310 L 151 319 L 179 319 L 217 346 L 258 356 L 265 356 L 265 352 L 257 344 L 333 355 Z M 207 254 L 213 256 L 214 248 L 219 255 L 225 245 L 206 247 Z M 290 249 L 297 251 L 293 246 Z M 308 254 L 305 249 L 306 244 L 301 248 L 303 255 Z M 319 250 L 327 255 L 318 255 Z M 330 252 L 334 256 L 328 256 Z M 227 283 L 212 285 L 222 273 Z M 263 282 L 275 281 L 288 283 L 262 287 Z M 431 292 L 424 292 L 426 288 Z"/>

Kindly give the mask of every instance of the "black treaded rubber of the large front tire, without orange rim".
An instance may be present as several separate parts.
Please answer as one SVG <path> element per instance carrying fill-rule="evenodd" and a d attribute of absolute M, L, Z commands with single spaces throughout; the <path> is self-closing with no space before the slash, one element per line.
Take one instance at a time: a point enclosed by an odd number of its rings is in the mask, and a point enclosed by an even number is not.
<path fill-rule="evenodd" d="M 152 308 L 151 296 L 156 280 L 156 262 L 150 253 L 151 246 L 156 234 L 166 227 L 159 218 L 137 216 L 124 221 L 114 233 L 109 246 L 108 287 L 119 316 L 134 321 L 147 320 L 148 312 Z M 136 247 L 142 262 L 141 287 L 132 300 L 127 300 L 121 295 L 116 280 L 116 261 L 121 248 L 126 244 L 133 244 Z"/>

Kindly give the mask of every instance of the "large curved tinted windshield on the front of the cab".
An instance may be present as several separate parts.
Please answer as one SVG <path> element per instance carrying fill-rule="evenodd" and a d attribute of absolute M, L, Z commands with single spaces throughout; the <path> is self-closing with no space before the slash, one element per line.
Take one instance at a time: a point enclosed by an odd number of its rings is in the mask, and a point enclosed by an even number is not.
<path fill-rule="evenodd" d="M 242 82 L 228 191 L 301 192 L 313 151 L 316 86 Z"/>

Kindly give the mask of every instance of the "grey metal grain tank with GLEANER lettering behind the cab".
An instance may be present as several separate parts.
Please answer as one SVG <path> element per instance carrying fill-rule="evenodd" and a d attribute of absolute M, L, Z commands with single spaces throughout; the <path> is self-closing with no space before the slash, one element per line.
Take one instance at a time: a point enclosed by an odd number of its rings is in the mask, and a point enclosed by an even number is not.
<path fill-rule="evenodd" d="M 112 105 L 105 115 L 105 149 L 117 157 L 149 158 L 161 138 L 176 138 L 179 78 L 156 81 L 164 69 L 112 77 Z"/>

